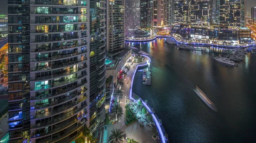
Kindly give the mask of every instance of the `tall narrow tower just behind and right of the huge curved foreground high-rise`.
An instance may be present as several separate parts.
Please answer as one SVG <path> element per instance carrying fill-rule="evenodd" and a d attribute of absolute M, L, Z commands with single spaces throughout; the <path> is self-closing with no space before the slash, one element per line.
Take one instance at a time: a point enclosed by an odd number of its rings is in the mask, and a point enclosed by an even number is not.
<path fill-rule="evenodd" d="M 125 48 L 125 0 L 107 0 L 107 51 Z"/>

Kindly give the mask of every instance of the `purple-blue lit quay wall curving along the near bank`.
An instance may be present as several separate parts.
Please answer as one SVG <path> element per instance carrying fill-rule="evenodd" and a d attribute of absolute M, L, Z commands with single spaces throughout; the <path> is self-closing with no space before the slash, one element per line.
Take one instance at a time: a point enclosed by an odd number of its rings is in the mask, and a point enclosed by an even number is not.
<path fill-rule="evenodd" d="M 151 59 L 148 57 L 148 56 L 145 56 L 143 55 L 144 57 L 148 58 L 149 59 L 149 62 L 151 62 Z M 132 97 L 132 87 L 133 87 L 133 81 L 134 81 L 134 76 L 135 74 L 137 73 L 137 70 L 139 67 L 146 67 L 148 66 L 148 63 L 145 63 L 145 64 L 139 64 L 136 66 L 135 70 L 134 70 L 134 73 L 133 73 L 133 76 L 132 76 L 132 80 L 131 80 L 131 89 L 130 89 L 130 99 L 134 100 L 135 99 Z M 138 95 L 137 95 L 138 96 Z M 140 96 L 138 96 L 140 97 Z M 153 119 L 154 119 L 154 123 L 155 123 L 155 126 L 157 127 L 157 131 L 159 133 L 159 137 L 160 137 L 160 140 L 161 140 L 161 143 L 169 143 L 168 141 L 168 135 L 166 134 L 166 131 L 164 130 L 163 128 L 163 125 L 162 123 L 160 122 L 159 118 L 157 117 L 157 115 L 154 113 L 154 111 L 152 110 L 152 108 L 143 100 L 143 99 L 139 99 L 142 101 L 142 104 L 143 106 L 148 110 L 148 112 L 152 115 Z"/>

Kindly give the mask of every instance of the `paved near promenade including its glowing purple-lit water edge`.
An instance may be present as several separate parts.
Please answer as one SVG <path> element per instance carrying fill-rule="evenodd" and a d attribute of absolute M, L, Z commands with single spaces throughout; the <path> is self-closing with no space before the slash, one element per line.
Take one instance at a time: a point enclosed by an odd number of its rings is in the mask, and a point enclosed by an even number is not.
<path fill-rule="evenodd" d="M 140 63 L 134 63 L 132 64 L 131 68 L 128 70 L 127 72 L 127 76 L 125 76 L 125 85 L 124 87 L 122 87 L 122 91 L 125 95 L 125 98 L 123 98 L 120 101 L 120 105 L 124 110 L 124 115 L 122 115 L 122 117 L 119 119 L 119 122 L 115 123 L 115 124 L 110 124 L 110 125 L 106 125 L 107 126 L 107 130 L 105 130 L 103 132 L 103 138 L 100 141 L 100 143 L 108 143 L 108 138 L 111 135 L 111 131 L 113 129 L 121 129 L 121 131 L 123 131 L 123 135 L 125 135 L 125 137 L 134 139 L 135 141 L 139 142 L 139 143 L 168 143 L 165 139 L 164 139 L 164 133 L 163 133 L 163 129 L 160 126 L 160 124 L 158 123 L 157 117 L 154 115 L 154 113 L 151 112 L 151 108 L 145 104 L 145 102 L 143 101 L 143 105 L 144 107 L 148 110 L 148 112 L 152 115 L 153 119 L 154 119 L 154 128 L 148 128 L 146 126 L 140 126 L 140 124 L 136 121 L 126 125 L 125 124 L 125 102 L 126 100 L 128 100 L 127 98 L 129 97 L 131 100 L 135 99 L 131 96 L 132 95 L 132 79 L 134 79 L 134 75 L 138 69 L 138 67 L 140 66 L 146 66 L 147 63 L 145 64 L 146 61 L 150 62 L 150 58 L 145 56 L 144 61 L 140 62 Z M 134 68 L 133 68 L 134 67 Z M 152 135 L 156 134 L 156 130 L 158 131 L 158 134 L 160 136 L 161 140 L 154 140 L 152 138 Z M 157 134 L 156 134 L 157 135 Z M 126 140 L 125 140 L 126 143 Z"/>

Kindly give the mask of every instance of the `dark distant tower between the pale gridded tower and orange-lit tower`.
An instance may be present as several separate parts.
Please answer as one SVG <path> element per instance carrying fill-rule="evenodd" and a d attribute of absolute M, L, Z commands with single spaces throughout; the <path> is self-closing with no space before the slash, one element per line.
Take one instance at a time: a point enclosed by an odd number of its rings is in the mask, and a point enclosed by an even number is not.
<path fill-rule="evenodd" d="M 140 0 L 140 28 L 153 26 L 153 0 Z"/>

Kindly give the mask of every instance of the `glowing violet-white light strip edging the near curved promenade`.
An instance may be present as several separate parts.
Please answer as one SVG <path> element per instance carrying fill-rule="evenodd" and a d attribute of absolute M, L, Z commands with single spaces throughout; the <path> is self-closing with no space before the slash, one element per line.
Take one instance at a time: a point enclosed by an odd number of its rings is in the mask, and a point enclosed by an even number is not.
<path fill-rule="evenodd" d="M 142 56 L 145 56 L 145 55 L 142 55 Z M 145 57 L 147 57 L 147 58 L 149 59 L 149 62 L 151 62 L 151 59 L 150 59 L 148 56 L 145 56 Z M 148 65 L 148 63 L 137 65 L 136 68 L 135 68 L 135 70 L 134 70 L 134 74 L 133 74 L 132 80 L 131 80 L 131 89 L 130 89 L 130 95 L 129 95 L 129 96 L 130 96 L 130 99 L 135 100 L 134 98 L 132 98 L 132 85 L 133 85 L 135 73 L 136 73 L 138 67 L 145 66 L 145 65 Z M 141 101 L 142 101 L 142 100 L 141 100 Z M 161 143 L 167 143 L 166 140 L 165 140 L 165 137 L 164 137 L 163 130 L 162 130 L 162 128 L 161 128 L 161 126 L 160 126 L 160 124 L 159 124 L 159 122 L 158 122 L 158 120 L 157 120 L 156 115 L 154 115 L 154 113 L 152 113 L 151 109 L 148 107 L 148 105 L 147 105 L 144 101 L 142 101 L 142 103 L 143 103 L 144 107 L 146 107 L 147 110 L 148 110 L 149 112 L 151 112 L 151 115 L 152 115 L 152 117 L 154 118 L 154 123 L 155 123 L 155 125 L 157 126 L 158 133 L 160 134 Z"/>

